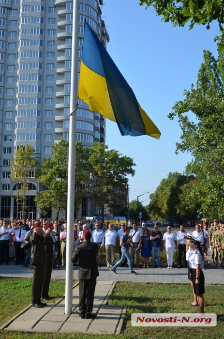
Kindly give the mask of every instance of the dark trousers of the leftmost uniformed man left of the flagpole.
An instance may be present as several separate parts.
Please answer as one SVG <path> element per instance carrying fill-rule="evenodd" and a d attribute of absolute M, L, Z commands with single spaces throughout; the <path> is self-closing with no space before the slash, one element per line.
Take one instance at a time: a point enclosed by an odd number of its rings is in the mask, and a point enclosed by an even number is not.
<path fill-rule="evenodd" d="M 31 287 L 31 302 L 32 304 L 41 301 L 41 292 L 45 277 L 45 265 L 33 265 L 33 281 Z"/>

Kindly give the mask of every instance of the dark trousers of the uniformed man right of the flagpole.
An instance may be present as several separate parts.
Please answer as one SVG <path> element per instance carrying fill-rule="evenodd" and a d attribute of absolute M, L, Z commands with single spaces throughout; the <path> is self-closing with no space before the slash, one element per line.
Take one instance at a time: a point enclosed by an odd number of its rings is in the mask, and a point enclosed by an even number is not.
<path fill-rule="evenodd" d="M 96 278 L 79 279 L 79 313 L 86 315 L 91 313 L 93 307 Z"/>

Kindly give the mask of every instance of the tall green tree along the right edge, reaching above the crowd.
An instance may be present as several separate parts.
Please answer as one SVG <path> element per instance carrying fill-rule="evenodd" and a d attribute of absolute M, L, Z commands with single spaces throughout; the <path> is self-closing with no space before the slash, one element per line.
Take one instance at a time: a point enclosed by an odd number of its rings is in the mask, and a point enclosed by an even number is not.
<path fill-rule="evenodd" d="M 224 44 L 224 37 L 217 39 Z M 189 115 L 189 112 L 191 114 Z M 194 114 L 194 120 L 190 119 Z M 190 192 L 200 197 L 199 212 L 203 217 L 224 215 L 224 52 L 218 59 L 204 51 L 204 62 L 198 71 L 196 86 L 184 91 L 168 117 L 178 117 L 182 130 L 176 153 L 191 152 L 193 159 L 186 167 L 194 175 Z"/>

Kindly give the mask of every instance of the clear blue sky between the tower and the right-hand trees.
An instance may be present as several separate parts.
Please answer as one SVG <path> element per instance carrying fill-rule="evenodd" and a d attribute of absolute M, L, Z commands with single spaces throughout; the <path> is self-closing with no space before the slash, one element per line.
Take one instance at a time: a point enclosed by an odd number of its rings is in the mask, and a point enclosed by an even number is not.
<path fill-rule="evenodd" d="M 175 154 L 181 130 L 177 119 L 167 114 L 183 98 L 184 89 L 195 84 L 203 62 L 203 50 L 217 56 L 214 36 L 218 23 L 205 26 L 172 27 L 161 22 L 151 8 L 138 0 L 105 0 L 102 8 L 110 43 L 107 51 L 132 87 L 141 107 L 160 129 L 160 140 L 148 137 L 122 137 L 116 123 L 106 122 L 106 144 L 134 158 L 136 173 L 130 178 L 129 200 L 152 193 L 169 172 L 183 172 L 191 154 Z M 147 200 L 148 199 L 148 200 Z M 139 198 L 149 203 L 149 194 Z"/>

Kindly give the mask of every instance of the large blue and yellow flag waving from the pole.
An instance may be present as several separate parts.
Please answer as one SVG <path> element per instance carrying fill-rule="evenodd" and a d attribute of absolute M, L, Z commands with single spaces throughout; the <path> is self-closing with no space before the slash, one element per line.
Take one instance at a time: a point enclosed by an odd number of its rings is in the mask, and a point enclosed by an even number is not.
<path fill-rule="evenodd" d="M 117 122 L 122 136 L 160 138 L 160 131 L 140 107 L 131 87 L 86 21 L 78 98 L 91 111 Z"/>

